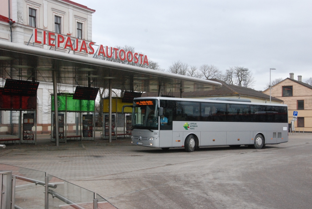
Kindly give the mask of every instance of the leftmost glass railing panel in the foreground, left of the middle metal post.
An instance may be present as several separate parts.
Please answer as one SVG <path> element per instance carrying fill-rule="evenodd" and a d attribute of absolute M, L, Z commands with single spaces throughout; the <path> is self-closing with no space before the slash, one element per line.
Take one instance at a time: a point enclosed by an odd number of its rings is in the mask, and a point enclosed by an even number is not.
<path fill-rule="evenodd" d="M 45 181 L 45 172 L 21 168 L 12 165 L 0 164 L 1 170 L 12 170 L 12 175 L 31 178 L 37 181 Z M 16 179 L 15 205 L 21 208 L 44 208 L 44 189 L 40 184 L 35 184 L 21 179 Z"/>

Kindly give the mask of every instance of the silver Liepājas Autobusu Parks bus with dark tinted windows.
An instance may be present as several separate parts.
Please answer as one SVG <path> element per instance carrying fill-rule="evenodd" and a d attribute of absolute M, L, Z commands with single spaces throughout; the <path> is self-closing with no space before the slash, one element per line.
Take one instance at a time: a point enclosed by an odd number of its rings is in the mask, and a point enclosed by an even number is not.
<path fill-rule="evenodd" d="M 132 106 L 132 143 L 168 150 L 246 145 L 255 149 L 288 141 L 287 105 L 240 99 L 139 97 Z M 241 102 L 242 101 L 242 102 Z"/>

